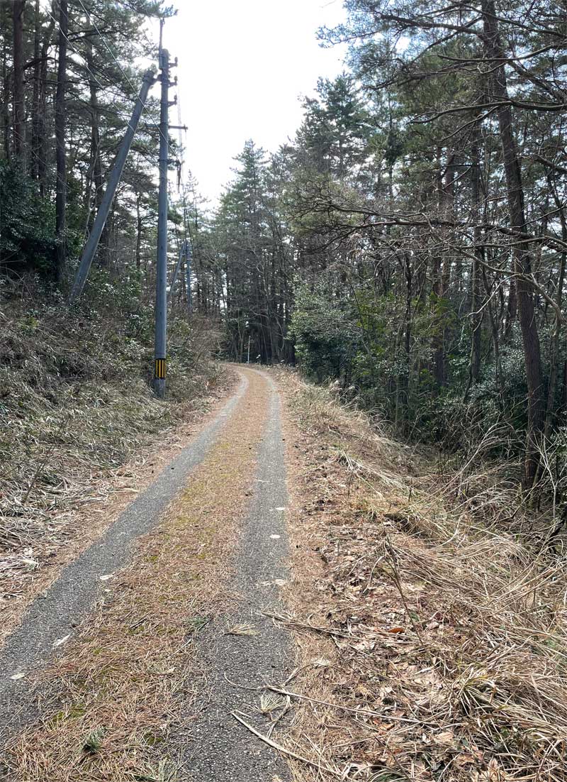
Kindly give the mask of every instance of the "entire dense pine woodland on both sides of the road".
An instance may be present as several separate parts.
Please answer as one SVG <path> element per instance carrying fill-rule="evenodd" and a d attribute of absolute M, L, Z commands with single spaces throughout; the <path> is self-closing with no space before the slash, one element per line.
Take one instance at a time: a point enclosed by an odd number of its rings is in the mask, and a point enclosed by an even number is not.
<path fill-rule="evenodd" d="M 64 296 L 155 57 L 162 2 L 2 3 L 2 296 Z M 565 481 L 567 5 L 347 0 L 348 62 L 210 209 L 173 185 L 193 311 L 223 354 L 336 379 L 398 436 Z M 137 66 L 140 63 L 140 66 Z M 155 99 L 152 99 L 155 101 Z M 87 302 L 153 296 L 158 131 L 138 132 Z M 149 116 L 148 116 L 149 115 Z M 180 145 L 171 141 L 180 151 Z M 95 285 L 92 284 L 95 281 Z M 172 291 L 177 307 L 187 289 Z M 83 305 L 84 306 L 84 303 Z M 144 315 L 145 317 L 145 315 Z M 489 433 L 489 437 L 487 437 Z"/>

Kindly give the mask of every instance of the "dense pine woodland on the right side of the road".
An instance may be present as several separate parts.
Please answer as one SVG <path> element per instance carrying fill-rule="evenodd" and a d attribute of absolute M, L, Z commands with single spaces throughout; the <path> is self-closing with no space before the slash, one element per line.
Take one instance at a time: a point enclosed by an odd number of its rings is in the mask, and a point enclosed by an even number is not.
<path fill-rule="evenodd" d="M 565 479 L 565 3 L 345 5 L 320 37 L 348 70 L 293 143 L 246 146 L 209 226 L 230 354 Z"/>

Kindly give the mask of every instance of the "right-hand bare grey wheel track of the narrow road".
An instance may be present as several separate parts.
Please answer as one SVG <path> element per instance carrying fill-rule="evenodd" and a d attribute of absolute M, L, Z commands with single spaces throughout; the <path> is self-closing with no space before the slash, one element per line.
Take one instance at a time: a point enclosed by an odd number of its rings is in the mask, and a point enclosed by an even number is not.
<path fill-rule="evenodd" d="M 266 616 L 266 612 L 281 613 L 280 587 L 289 578 L 287 486 L 280 395 L 271 378 L 258 374 L 269 386 L 269 414 L 253 498 L 234 553 L 231 587 L 240 600 L 234 611 L 221 615 L 198 637 L 205 680 L 199 711 L 173 737 L 184 759 L 182 779 L 191 782 L 284 782 L 291 778 L 287 763 L 231 714 L 244 711 L 248 723 L 266 734 L 271 716 L 258 712 L 260 692 L 251 690 L 283 681 L 293 667 L 289 634 Z M 254 635 L 226 633 L 229 626 L 246 624 L 252 626 Z"/>

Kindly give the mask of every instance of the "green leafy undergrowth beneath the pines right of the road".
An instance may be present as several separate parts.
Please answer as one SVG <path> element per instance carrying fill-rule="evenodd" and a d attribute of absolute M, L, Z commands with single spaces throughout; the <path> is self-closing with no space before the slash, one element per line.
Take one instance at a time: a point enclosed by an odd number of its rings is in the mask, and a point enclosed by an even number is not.
<path fill-rule="evenodd" d="M 339 292 L 341 292 L 339 294 Z M 347 396 L 378 411 L 398 436 L 466 451 L 491 427 L 503 434 L 501 453 L 524 447 L 527 426 L 526 371 L 519 325 L 500 346 L 499 363 L 487 335 L 480 377 L 469 381 L 472 330 L 455 315 L 457 302 L 397 298 L 361 287 L 344 296 L 340 274 L 324 272 L 315 284 L 298 285 L 291 336 L 301 370 L 318 382 L 338 381 Z M 411 307 L 408 321 L 407 307 Z M 542 359 L 549 365 L 551 334 L 543 334 Z M 444 382 L 435 367 L 443 344 Z M 557 371 L 567 361 L 562 344 Z M 543 389 L 547 396 L 547 382 Z M 561 378 L 554 407 L 562 408 Z M 498 447 L 494 446 L 494 455 Z"/>

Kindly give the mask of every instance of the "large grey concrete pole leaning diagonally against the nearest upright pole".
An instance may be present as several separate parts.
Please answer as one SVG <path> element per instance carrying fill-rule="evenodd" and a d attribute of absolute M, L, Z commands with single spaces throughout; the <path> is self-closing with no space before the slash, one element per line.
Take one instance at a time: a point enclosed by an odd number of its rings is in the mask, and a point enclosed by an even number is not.
<path fill-rule="evenodd" d="M 116 156 L 116 160 L 114 161 L 114 166 L 112 167 L 112 172 L 109 177 L 109 184 L 107 185 L 105 195 L 102 196 L 101 205 L 98 207 L 98 213 L 95 217 L 95 224 L 91 229 L 91 234 L 87 239 L 87 244 L 84 246 L 83 255 L 80 258 L 79 268 L 77 269 L 77 274 L 75 275 L 73 287 L 71 288 L 69 296 L 70 304 L 73 304 L 73 302 L 75 302 L 80 297 L 84 289 L 84 284 L 87 282 L 88 273 L 91 271 L 91 264 L 93 258 L 95 257 L 98 242 L 100 241 L 102 235 L 102 229 L 105 227 L 106 220 L 109 217 L 110 207 L 112 206 L 116 188 L 118 187 L 118 183 L 122 177 L 124 163 L 126 163 L 128 152 L 130 152 L 132 139 L 134 138 L 137 125 L 140 122 L 144 104 L 146 99 L 148 99 L 148 91 L 150 87 L 152 87 L 154 81 L 154 71 L 147 70 L 144 74 L 144 81 L 142 82 L 140 95 L 138 96 L 136 105 L 134 106 L 132 119 L 130 120 L 130 124 L 127 127 L 126 134 L 124 135 L 122 146 L 120 147 L 118 155 Z"/>

